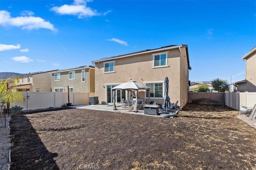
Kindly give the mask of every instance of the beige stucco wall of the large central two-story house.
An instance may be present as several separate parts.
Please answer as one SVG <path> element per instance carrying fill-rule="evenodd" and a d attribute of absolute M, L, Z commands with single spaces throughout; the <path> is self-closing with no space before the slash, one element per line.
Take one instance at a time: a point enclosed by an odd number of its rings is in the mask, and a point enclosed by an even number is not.
<path fill-rule="evenodd" d="M 185 51 L 185 48 L 181 48 Z M 166 50 L 165 50 L 166 51 Z M 158 51 L 165 52 L 165 51 Z M 180 102 L 180 51 L 179 49 L 169 49 L 168 51 L 168 67 L 152 68 L 153 67 L 153 56 L 152 53 L 136 55 L 132 57 L 125 57 L 122 59 L 116 59 L 115 61 L 115 72 L 104 73 L 104 63 L 95 64 L 95 96 L 98 96 L 100 103 L 106 103 L 106 85 L 121 84 L 127 82 L 129 78 L 137 81 L 141 84 L 150 82 L 164 82 L 165 77 L 169 79 L 169 97 L 171 102 Z M 184 57 L 185 58 L 185 57 Z M 182 59 L 182 62 L 186 61 Z M 109 61 L 108 61 L 109 62 Z M 185 66 L 184 66 L 185 67 Z M 184 69 L 184 67 L 182 69 Z M 184 85 L 182 90 L 188 88 L 188 80 L 182 79 Z M 187 82 L 187 83 L 186 83 Z M 187 100 L 187 94 L 182 94 L 185 103 Z M 139 98 L 144 98 L 144 92 L 139 93 Z M 151 99 L 156 100 L 158 104 L 164 102 L 162 99 Z M 179 103 L 180 104 L 180 103 Z"/>

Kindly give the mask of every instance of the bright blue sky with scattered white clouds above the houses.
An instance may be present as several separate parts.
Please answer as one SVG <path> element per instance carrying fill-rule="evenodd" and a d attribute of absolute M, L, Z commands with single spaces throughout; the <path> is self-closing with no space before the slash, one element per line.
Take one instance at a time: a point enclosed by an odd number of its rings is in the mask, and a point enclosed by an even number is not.
<path fill-rule="evenodd" d="M 255 0 L 1 0 L 0 72 L 38 72 L 188 45 L 191 81 L 245 79 Z"/>

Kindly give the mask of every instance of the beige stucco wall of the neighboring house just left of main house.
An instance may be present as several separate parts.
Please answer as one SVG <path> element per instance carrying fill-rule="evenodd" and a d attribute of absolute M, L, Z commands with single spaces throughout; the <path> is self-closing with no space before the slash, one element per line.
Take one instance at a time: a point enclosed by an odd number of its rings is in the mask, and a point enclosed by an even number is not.
<path fill-rule="evenodd" d="M 85 82 L 82 82 L 82 68 L 81 70 L 75 71 L 75 79 L 69 80 L 69 71 L 60 72 L 60 81 L 54 81 L 54 73 L 52 74 L 52 92 L 54 92 L 54 88 L 64 88 L 64 92 L 68 92 L 69 88 L 73 87 L 74 92 L 85 93 L 89 92 L 89 68 L 85 69 Z M 92 70 L 92 69 L 91 69 Z"/>

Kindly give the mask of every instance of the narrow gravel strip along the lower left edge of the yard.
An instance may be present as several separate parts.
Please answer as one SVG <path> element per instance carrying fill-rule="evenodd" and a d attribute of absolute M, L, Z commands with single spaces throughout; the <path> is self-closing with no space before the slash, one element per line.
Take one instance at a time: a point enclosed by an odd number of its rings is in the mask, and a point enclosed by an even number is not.
<path fill-rule="evenodd" d="M 10 146 L 10 116 L 6 116 L 6 127 L 0 127 L 0 170 L 8 170 L 9 146 Z"/>

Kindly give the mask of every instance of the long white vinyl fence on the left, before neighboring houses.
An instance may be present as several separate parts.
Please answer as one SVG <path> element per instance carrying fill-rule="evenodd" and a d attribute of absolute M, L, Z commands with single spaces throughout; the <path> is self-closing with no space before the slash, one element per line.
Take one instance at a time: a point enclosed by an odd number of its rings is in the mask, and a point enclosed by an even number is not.
<path fill-rule="evenodd" d="M 68 92 L 22 92 L 24 102 L 17 103 L 23 110 L 62 107 L 68 103 Z M 89 93 L 69 93 L 72 105 L 89 104 Z M 11 108 L 12 106 L 10 106 Z"/>

